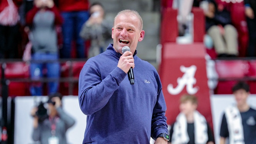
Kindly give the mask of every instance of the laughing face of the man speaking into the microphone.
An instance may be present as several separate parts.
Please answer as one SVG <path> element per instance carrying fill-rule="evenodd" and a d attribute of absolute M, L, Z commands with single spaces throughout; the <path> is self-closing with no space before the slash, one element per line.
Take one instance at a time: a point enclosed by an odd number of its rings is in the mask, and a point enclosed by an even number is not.
<path fill-rule="evenodd" d="M 140 30 L 141 23 L 135 15 L 120 14 L 117 16 L 112 28 L 113 47 L 120 54 L 124 46 L 130 47 L 134 54 L 137 44 L 144 38 L 144 31 Z"/>

